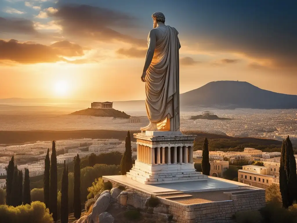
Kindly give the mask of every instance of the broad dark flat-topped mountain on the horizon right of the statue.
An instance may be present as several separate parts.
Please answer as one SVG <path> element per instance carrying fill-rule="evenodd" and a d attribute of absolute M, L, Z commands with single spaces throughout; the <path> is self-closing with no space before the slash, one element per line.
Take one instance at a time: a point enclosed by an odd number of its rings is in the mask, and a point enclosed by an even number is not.
<path fill-rule="evenodd" d="M 248 82 L 213 81 L 180 95 L 181 107 L 297 109 L 297 95 L 260 89 Z"/>

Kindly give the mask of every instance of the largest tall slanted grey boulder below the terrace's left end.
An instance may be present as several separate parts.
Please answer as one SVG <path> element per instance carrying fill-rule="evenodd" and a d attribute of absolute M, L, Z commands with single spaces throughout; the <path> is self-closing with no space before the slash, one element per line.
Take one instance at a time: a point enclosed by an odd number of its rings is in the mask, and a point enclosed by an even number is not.
<path fill-rule="evenodd" d="M 108 193 L 105 192 L 104 194 L 100 195 L 100 197 L 97 199 L 97 201 L 93 205 L 92 213 L 90 213 L 88 215 L 88 222 L 91 222 L 92 220 L 93 220 L 93 222 L 98 222 L 99 214 L 106 211 L 106 209 L 108 208 L 108 206 L 110 204 L 110 199 L 111 199 L 111 196 L 110 196 L 109 191 L 108 191 Z"/>

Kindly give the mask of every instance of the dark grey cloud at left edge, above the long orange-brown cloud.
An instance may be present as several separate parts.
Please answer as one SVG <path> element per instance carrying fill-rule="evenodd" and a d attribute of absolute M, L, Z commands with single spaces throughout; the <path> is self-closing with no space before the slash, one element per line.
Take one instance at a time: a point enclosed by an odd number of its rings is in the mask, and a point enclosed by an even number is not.
<path fill-rule="evenodd" d="M 38 34 L 32 21 L 20 18 L 0 17 L 0 30 L 2 33 Z"/>

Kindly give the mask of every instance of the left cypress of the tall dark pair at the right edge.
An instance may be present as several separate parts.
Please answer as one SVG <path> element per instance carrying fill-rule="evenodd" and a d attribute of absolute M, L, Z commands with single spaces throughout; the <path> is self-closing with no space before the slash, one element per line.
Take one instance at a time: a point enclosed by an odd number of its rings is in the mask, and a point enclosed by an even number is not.
<path fill-rule="evenodd" d="M 286 143 L 282 141 L 281 158 L 279 164 L 279 190 L 282 195 L 282 206 L 288 208 L 288 188 L 287 188 L 287 173 L 285 170 L 286 165 Z"/>

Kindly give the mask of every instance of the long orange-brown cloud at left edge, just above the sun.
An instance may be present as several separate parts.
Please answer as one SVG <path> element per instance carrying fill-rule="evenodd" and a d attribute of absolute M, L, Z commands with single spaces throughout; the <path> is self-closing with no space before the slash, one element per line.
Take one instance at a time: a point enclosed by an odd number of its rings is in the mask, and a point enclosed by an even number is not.
<path fill-rule="evenodd" d="M 75 43 L 60 41 L 51 45 L 0 40 L 0 60 L 22 64 L 69 62 L 64 57 L 83 56 L 83 48 Z M 85 61 L 86 62 L 86 61 Z M 75 63 L 70 61 L 70 63 Z"/>

